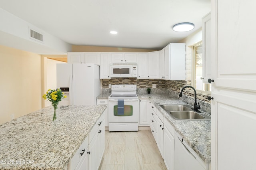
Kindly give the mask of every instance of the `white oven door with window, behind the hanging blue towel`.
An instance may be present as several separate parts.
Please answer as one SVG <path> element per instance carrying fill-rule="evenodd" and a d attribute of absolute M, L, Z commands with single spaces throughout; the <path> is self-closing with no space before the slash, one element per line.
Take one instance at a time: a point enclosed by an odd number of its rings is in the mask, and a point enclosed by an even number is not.
<path fill-rule="evenodd" d="M 109 123 L 138 123 L 139 100 L 123 99 L 124 114 L 118 114 L 118 99 L 108 99 Z"/>

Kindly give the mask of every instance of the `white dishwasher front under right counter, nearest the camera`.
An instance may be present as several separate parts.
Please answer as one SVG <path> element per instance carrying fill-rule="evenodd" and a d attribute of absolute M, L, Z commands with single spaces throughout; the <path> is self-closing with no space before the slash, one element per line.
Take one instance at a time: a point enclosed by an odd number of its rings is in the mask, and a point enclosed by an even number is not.
<path fill-rule="evenodd" d="M 209 170 L 209 164 L 204 163 L 177 132 L 174 142 L 174 170 Z"/>

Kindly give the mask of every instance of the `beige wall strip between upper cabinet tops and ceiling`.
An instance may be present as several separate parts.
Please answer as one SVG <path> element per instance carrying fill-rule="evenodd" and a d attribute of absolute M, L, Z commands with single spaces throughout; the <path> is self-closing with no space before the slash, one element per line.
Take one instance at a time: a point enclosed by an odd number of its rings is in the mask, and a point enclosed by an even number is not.
<path fill-rule="evenodd" d="M 100 47 L 89 45 L 72 45 L 72 52 L 151 52 L 159 49 L 139 49 L 139 48 L 119 48 L 119 47 Z"/>

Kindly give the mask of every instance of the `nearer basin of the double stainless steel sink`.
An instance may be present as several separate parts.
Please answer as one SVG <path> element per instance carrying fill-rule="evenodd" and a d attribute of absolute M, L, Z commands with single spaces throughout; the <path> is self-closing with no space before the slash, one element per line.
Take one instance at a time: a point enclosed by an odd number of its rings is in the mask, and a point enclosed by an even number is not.
<path fill-rule="evenodd" d="M 194 111 L 173 111 L 170 115 L 176 119 L 204 119 L 204 116 L 194 112 Z"/>

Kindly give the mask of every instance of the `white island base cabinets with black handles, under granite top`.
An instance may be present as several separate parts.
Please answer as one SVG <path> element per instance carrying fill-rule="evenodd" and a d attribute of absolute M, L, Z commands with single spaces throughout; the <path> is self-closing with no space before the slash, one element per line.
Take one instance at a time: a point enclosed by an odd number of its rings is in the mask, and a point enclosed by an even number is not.
<path fill-rule="evenodd" d="M 76 151 L 68 170 L 98 170 L 105 150 L 105 114 L 106 111 Z"/>

